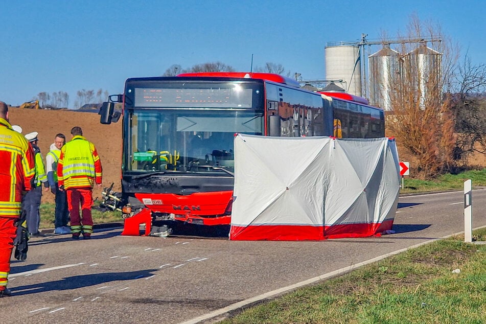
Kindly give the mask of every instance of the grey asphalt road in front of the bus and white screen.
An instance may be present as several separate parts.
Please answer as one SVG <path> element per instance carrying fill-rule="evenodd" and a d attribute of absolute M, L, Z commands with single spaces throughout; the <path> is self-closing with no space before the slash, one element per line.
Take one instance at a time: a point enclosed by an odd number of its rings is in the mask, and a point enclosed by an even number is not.
<path fill-rule="evenodd" d="M 396 234 L 372 238 L 245 242 L 122 237 L 120 229 L 85 241 L 34 238 L 27 261 L 12 263 L 14 295 L 0 299 L 2 321 L 195 322 L 242 300 L 462 232 L 463 199 L 461 192 L 401 197 Z M 474 191 L 473 227 L 486 225 L 485 210 L 486 190 Z"/>

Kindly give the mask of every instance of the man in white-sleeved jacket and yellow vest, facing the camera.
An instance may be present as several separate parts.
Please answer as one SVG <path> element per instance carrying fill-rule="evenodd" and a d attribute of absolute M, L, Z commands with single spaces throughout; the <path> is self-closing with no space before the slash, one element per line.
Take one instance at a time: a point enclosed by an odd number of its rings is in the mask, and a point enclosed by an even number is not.
<path fill-rule="evenodd" d="M 57 134 L 54 143 L 51 144 L 51 151 L 45 156 L 45 171 L 51 187 L 51 192 L 56 195 L 56 208 L 54 212 L 54 233 L 71 234 L 71 228 L 67 226 L 69 211 L 67 209 L 67 196 L 65 191 L 58 189 L 57 183 L 57 161 L 61 155 L 61 147 L 66 144 L 66 136 Z"/>

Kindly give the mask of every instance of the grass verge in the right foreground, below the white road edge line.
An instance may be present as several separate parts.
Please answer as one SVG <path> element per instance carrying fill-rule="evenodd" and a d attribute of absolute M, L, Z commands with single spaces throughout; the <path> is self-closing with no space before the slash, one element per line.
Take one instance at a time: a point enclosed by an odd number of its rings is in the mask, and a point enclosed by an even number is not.
<path fill-rule="evenodd" d="M 474 238 L 486 241 L 486 229 Z M 300 288 L 222 323 L 484 323 L 484 269 L 486 245 L 453 237 Z"/>

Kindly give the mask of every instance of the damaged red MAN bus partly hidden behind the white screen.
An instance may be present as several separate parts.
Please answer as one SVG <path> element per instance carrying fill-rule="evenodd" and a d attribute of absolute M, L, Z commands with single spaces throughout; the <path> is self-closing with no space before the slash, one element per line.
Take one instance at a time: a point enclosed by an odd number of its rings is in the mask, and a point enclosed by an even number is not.
<path fill-rule="evenodd" d="M 228 225 L 235 133 L 333 136 L 336 119 L 343 137 L 384 136 L 382 109 L 362 98 L 307 91 L 275 74 L 131 78 L 123 96 L 110 97 L 123 101 L 126 235 L 138 235 L 141 223 L 146 234 L 157 222 Z M 103 105 L 103 124 L 115 118 L 113 105 Z"/>

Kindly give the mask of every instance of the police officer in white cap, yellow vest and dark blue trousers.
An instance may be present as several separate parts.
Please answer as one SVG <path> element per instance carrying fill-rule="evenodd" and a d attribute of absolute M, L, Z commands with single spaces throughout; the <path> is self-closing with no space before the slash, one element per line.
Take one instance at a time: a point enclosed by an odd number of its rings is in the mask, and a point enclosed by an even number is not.
<path fill-rule="evenodd" d="M 27 140 L 32 145 L 34 149 L 34 160 L 35 160 L 35 176 L 34 183 L 32 183 L 32 190 L 28 191 L 24 197 L 24 203 L 22 207 L 26 211 L 27 217 L 27 230 L 29 231 L 29 236 L 31 237 L 42 237 L 44 236 L 39 232 L 40 224 L 40 202 L 42 199 L 42 186 L 44 184 L 45 191 L 49 191 L 49 181 L 47 174 L 45 173 L 44 161 L 42 155 L 40 154 L 40 149 L 37 146 L 39 142 L 38 132 L 31 132 L 26 134 Z"/>

